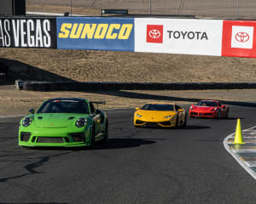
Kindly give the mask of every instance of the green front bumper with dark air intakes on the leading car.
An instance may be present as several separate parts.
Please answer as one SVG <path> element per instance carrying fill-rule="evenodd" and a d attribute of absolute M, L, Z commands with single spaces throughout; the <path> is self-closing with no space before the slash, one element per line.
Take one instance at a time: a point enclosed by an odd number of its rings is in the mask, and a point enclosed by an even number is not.
<path fill-rule="evenodd" d="M 75 131 L 67 128 L 20 127 L 19 145 L 28 147 L 79 147 L 90 146 L 91 128 L 83 127 Z"/>

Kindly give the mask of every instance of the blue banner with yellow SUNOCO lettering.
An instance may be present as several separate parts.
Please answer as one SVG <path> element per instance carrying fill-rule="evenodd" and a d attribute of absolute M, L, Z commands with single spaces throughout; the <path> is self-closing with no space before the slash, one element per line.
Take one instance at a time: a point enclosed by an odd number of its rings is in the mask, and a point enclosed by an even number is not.
<path fill-rule="evenodd" d="M 134 19 L 58 17 L 57 48 L 134 51 Z"/>

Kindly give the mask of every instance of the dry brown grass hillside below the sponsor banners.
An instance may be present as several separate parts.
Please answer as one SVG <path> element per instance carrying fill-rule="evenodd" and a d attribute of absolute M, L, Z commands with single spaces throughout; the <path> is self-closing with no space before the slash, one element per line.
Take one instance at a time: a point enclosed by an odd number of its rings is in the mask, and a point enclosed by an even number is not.
<path fill-rule="evenodd" d="M 9 81 L 256 82 L 256 59 L 0 48 Z"/>

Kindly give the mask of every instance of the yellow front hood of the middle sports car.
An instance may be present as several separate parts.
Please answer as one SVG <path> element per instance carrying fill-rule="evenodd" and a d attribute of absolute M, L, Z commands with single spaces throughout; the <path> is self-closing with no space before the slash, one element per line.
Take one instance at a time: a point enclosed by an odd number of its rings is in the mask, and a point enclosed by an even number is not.
<path fill-rule="evenodd" d="M 165 118 L 165 116 L 175 115 L 175 111 L 145 111 L 139 110 L 137 114 L 141 115 L 142 118 L 149 121 L 161 121 Z"/>

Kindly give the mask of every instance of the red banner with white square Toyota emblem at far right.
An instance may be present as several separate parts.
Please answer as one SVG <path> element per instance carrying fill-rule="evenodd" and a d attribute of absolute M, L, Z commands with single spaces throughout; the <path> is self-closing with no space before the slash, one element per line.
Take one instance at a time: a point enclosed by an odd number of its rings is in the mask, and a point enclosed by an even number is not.
<path fill-rule="evenodd" d="M 256 57 L 256 21 L 224 20 L 222 56 Z"/>

